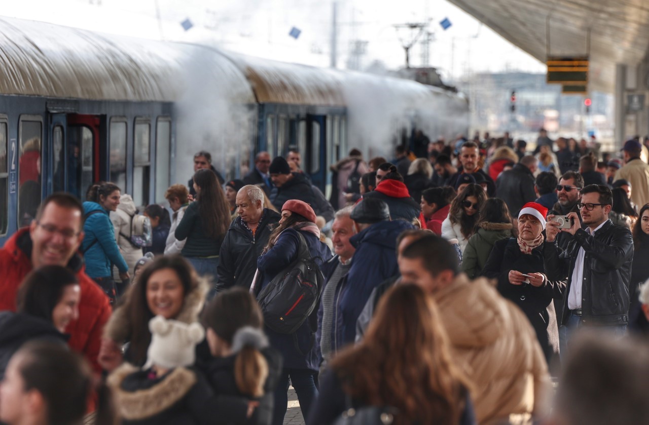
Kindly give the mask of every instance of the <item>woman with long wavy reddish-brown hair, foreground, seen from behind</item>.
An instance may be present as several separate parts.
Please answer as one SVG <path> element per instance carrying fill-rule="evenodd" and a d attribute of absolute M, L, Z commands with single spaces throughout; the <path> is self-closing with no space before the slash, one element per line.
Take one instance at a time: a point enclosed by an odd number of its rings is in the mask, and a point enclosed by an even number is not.
<path fill-rule="evenodd" d="M 437 306 L 417 285 L 389 289 L 365 339 L 331 367 L 310 425 L 330 424 L 352 408 L 367 419 L 392 417 L 384 423 L 475 424 L 468 384 L 452 361 Z"/>

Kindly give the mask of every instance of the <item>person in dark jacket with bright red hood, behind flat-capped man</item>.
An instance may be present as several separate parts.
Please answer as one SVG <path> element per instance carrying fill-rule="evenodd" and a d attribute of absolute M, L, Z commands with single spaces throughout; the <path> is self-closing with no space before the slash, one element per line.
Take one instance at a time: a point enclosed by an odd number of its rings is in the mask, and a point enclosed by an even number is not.
<path fill-rule="evenodd" d="M 413 219 L 420 219 L 419 204 L 410 197 L 410 192 L 399 173 L 387 173 L 373 191 L 363 195 L 363 199 L 380 199 L 386 202 L 393 220 L 406 219 L 411 222 Z"/>

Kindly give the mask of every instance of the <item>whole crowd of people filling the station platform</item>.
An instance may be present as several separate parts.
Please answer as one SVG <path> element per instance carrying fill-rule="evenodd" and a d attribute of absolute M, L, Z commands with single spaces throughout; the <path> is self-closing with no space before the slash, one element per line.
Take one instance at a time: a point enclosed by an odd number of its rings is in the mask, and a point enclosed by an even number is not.
<path fill-rule="evenodd" d="M 309 425 L 647 423 L 646 153 L 415 132 L 329 200 L 293 147 L 54 193 L 0 249 L 0 422 L 281 425 L 292 385 Z"/>

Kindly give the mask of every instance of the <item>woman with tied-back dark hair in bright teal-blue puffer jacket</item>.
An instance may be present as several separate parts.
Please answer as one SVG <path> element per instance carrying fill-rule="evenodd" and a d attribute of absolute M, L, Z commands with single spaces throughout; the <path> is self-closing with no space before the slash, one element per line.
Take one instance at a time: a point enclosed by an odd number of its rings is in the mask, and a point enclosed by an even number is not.
<path fill-rule="evenodd" d="M 112 276 L 112 265 L 119 270 L 122 282 L 128 282 L 129 265 L 119 252 L 115 240 L 115 229 L 109 213 L 117 210 L 119 205 L 119 188 L 108 182 L 93 184 L 86 193 L 84 208 L 84 238 L 81 244 L 86 261 L 86 274 L 90 276 L 114 304 L 117 297 L 115 280 Z"/>

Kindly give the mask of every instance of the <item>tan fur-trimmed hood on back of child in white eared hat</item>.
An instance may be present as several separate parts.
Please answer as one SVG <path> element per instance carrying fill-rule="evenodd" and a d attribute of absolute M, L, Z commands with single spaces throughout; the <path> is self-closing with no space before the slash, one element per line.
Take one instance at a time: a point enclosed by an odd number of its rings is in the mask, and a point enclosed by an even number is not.
<path fill-rule="evenodd" d="M 125 363 L 108 376 L 119 414 L 126 420 L 142 420 L 163 413 L 182 400 L 197 383 L 196 374 L 178 367 L 150 385 L 148 370 Z"/>

